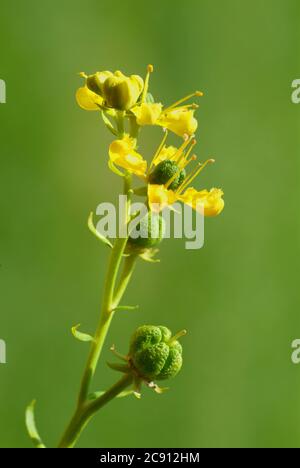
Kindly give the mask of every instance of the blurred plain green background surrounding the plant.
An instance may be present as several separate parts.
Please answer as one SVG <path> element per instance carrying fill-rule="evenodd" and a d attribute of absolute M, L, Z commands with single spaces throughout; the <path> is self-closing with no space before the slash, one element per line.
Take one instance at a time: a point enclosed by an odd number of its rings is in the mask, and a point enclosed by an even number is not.
<path fill-rule="evenodd" d="M 198 186 L 221 186 L 226 209 L 206 243 L 165 241 L 161 264 L 140 262 L 105 360 L 127 351 L 143 323 L 189 331 L 168 394 L 118 400 L 80 447 L 300 446 L 298 0 L 2 2 L 0 78 L 0 446 L 30 447 L 24 409 L 37 399 L 40 433 L 55 446 L 71 415 L 88 347 L 70 327 L 95 328 L 108 252 L 86 228 L 114 200 L 110 135 L 74 100 L 77 72 L 144 74 L 172 103 L 201 89 L 198 153 L 217 164 Z M 153 148 L 160 131 L 145 129 Z M 149 150 L 150 154 L 150 150 Z"/>

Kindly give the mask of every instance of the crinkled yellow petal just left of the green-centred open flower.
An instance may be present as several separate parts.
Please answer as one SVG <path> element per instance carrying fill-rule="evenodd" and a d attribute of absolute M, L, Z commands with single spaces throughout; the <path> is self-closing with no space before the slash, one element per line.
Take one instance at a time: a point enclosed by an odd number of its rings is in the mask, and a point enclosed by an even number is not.
<path fill-rule="evenodd" d="M 122 167 L 126 171 L 144 178 L 147 171 L 147 161 L 137 153 L 136 140 L 125 135 L 122 140 L 115 140 L 109 147 L 110 167 Z"/>

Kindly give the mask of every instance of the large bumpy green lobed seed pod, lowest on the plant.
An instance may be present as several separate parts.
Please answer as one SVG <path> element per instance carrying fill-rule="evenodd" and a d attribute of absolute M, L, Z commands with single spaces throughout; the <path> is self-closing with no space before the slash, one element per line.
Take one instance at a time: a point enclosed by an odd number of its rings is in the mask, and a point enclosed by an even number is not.
<path fill-rule="evenodd" d="M 172 338 L 168 328 L 144 325 L 131 338 L 129 358 L 142 378 L 166 380 L 178 374 L 182 367 L 182 347 Z"/>

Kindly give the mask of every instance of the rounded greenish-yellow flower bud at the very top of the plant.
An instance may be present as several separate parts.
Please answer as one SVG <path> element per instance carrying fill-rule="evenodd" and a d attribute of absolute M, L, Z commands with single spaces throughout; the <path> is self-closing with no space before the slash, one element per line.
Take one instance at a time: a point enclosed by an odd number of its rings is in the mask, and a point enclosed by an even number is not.
<path fill-rule="evenodd" d="M 129 110 L 137 103 L 143 87 L 144 81 L 138 75 L 127 77 L 116 71 L 104 81 L 103 97 L 108 107 Z"/>

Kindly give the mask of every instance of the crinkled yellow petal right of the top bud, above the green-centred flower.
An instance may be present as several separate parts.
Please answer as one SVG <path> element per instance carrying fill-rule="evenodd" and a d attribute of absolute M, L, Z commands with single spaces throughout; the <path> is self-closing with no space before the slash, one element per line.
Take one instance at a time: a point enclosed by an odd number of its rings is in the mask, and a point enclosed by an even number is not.
<path fill-rule="evenodd" d="M 163 113 L 158 121 L 158 125 L 171 130 L 176 135 L 194 135 L 198 128 L 198 122 L 194 117 L 194 110 L 173 109 Z"/>

